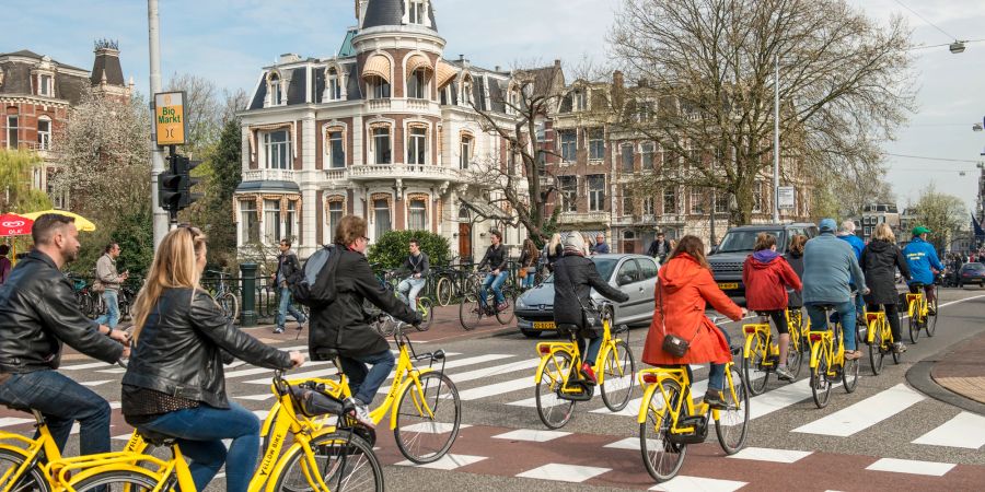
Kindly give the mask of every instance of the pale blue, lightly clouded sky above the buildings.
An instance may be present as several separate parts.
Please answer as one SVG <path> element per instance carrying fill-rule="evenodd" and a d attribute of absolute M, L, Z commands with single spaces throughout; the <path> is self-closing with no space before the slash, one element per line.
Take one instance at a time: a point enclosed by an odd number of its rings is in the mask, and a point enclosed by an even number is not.
<path fill-rule="evenodd" d="M 465 55 L 494 68 L 551 63 L 573 66 L 586 57 L 604 62 L 605 35 L 618 0 L 432 0 L 445 58 Z M 903 2 L 915 13 L 903 7 Z M 916 45 L 985 39 L 981 0 L 848 0 L 876 22 L 902 14 Z M 30 49 L 92 68 L 92 44 L 117 39 L 125 77 L 149 92 L 144 0 L 3 0 L 14 22 L 4 23 L 0 52 Z M 489 12 L 482 8 L 493 7 Z M 917 15 L 918 14 L 918 15 Z M 354 0 L 161 0 L 162 73 L 192 73 L 223 89 L 252 91 L 260 68 L 280 54 L 335 55 L 356 23 Z M 920 19 L 923 17 L 923 19 Z M 939 27 L 934 27 L 931 24 Z M 943 32 L 941 32 L 943 31 Z M 947 33 L 947 34 L 946 34 Z M 913 51 L 917 110 L 896 140 L 883 145 L 888 178 L 905 207 L 934 183 L 973 209 L 977 169 L 985 161 L 985 42 L 952 55 L 947 46 Z M 939 161 L 957 160 L 967 162 Z M 961 176 L 960 173 L 965 175 Z"/>

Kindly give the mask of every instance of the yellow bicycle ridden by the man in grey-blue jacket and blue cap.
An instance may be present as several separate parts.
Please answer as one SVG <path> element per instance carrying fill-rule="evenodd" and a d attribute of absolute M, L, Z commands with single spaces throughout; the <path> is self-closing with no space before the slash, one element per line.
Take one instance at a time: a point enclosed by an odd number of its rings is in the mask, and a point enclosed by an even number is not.
<path fill-rule="evenodd" d="M 834 306 L 818 307 L 824 311 L 824 319 L 827 321 Z M 831 401 L 831 387 L 838 380 L 844 383 L 846 393 L 855 391 L 858 386 L 858 360 L 845 359 L 844 327 L 841 319 L 833 328 L 819 328 L 823 331 L 812 329 L 808 336 L 811 343 L 811 395 L 814 405 L 824 408 Z"/>

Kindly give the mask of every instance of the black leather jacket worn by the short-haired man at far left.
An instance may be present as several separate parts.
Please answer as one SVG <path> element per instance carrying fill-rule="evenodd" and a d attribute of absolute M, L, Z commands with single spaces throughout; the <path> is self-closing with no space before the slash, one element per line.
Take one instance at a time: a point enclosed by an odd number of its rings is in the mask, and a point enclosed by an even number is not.
<path fill-rule="evenodd" d="M 72 284 L 48 255 L 27 254 L 0 285 L 0 373 L 58 368 L 61 344 L 114 363 L 124 347 L 79 311 Z"/>

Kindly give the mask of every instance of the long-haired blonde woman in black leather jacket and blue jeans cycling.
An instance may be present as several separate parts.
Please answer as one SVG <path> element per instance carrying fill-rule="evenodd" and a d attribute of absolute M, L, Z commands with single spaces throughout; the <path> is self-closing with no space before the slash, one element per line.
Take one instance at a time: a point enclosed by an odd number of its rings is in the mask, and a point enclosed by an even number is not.
<path fill-rule="evenodd" d="M 225 396 L 222 352 L 271 370 L 300 366 L 300 352 L 267 347 L 240 331 L 199 285 L 206 236 L 170 232 L 137 296 L 134 349 L 123 378 L 127 423 L 177 438 L 205 490 L 225 464 L 227 490 L 245 491 L 259 453 L 259 420 Z M 231 438 L 227 452 L 222 440 Z"/>

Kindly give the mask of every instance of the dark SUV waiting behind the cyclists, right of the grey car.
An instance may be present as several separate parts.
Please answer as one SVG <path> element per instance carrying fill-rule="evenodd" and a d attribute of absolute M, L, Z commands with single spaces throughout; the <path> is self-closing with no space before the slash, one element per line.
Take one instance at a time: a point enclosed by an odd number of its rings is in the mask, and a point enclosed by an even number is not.
<path fill-rule="evenodd" d="M 762 232 L 776 236 L 776 250 L 783 255 L 787 251 L 790 237 L 797 234 L 814 237 L 818 235 L 818 226 L 811 223 L 792 223 L 740 225 L 730 229 L 721 244 L 708 256 L 718 288 L 730 297 L 745 297 L 742 263 L 745 262 L 745 257 L 752 255 L 756 235 Z"/>

